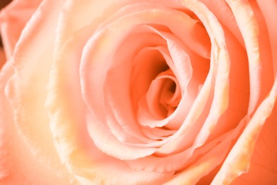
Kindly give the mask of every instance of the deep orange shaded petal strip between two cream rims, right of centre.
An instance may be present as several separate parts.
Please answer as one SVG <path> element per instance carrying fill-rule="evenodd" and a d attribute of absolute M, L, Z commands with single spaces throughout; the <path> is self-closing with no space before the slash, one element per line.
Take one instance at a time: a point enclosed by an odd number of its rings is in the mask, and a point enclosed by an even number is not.
<path fill-rule="evenodd" d="M 223 28 L 230 60 L 236 62 L 230 63 L 227 110 L 219 118 L 217 126 L 214 127 L 208 139 L 216 138 L 229 129 L 237 127 L 239 121 L 246 115 L 249 104 L 249 68 L 246 51 L 228 29 Z"/>

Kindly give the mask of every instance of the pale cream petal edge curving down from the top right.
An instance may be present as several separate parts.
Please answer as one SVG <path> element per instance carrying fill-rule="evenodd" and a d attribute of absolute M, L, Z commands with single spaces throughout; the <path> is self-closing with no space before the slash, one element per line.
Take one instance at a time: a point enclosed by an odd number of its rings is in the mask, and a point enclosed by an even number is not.
<path fill-rule="evenodd" d="M 249 58 L 250 100 L 249 115 L 257 107 L 261 93 L 261 58 L 259 53 L 259 25 L 249 1 L 225 0 L 232 9 L 241 31 Z"/>

